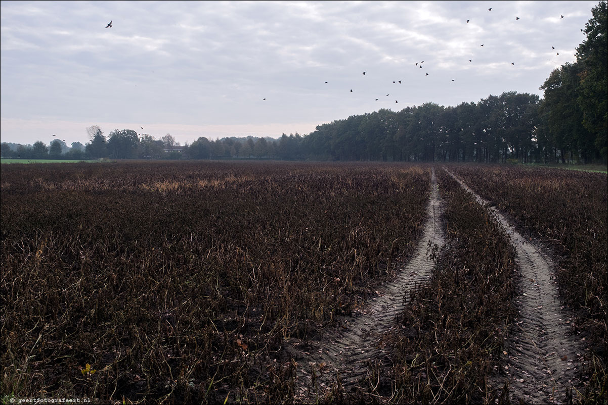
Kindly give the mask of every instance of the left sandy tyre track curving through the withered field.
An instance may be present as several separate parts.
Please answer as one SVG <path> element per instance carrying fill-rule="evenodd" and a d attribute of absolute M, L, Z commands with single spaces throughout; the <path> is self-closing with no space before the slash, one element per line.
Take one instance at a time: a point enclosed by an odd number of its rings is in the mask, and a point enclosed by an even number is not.
<path fill-rule="evenodd" d="M 390 366 L 390 361 L 385 359 L 385 350 L 379 344 L 381 336 L 392 327 L 395 317 L 404 308 L 409 291 L 430 279 L 435 267 L 430 252 L 444 244 L 443 209 L 434 169 L 426 209 L 423 236 L 412 257 L 397 265 L 395 279 L 379 287 L 376 291 L 378 296 L 358 311 L 357 316 L 342 319 L 339 327 L 326 332 L 311 345 L 305 358 L 299 359 L 295 379 L 296 403 L 321 401 L 338 381 L 346 390 L 359 384 L 373 385 L 374 381 L 365 381 L 370 364 Z"/>

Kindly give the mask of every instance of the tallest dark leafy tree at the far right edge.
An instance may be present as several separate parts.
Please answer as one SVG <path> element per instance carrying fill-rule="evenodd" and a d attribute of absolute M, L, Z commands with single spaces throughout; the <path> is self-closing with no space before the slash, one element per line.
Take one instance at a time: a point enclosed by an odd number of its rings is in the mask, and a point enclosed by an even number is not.
<path fill-rule="evenodd" d="M 582 64 L 581 89 L 577 101 L 585 128 L 595 135 L 595 146 L 604 160 L 608 158 L 608 14 L 606 1 L 591 10 L 585 24 L 587 39 L 576 49 Z"/>

